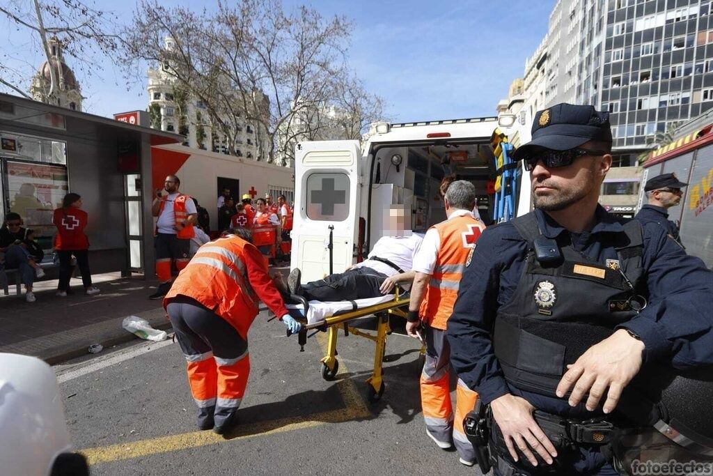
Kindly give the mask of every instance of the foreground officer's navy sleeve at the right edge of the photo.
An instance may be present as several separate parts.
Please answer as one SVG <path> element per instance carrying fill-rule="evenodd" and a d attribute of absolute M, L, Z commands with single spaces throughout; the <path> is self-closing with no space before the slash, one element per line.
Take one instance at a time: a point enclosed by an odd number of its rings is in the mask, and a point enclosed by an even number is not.
<path fill-rule="evenodd" d="M 657 223 L 643 228 L 649 303 L 620 327 L 640 336 L 646 363 L 667 361 L 679 369 L 712 364 L 713 273 Z"/>

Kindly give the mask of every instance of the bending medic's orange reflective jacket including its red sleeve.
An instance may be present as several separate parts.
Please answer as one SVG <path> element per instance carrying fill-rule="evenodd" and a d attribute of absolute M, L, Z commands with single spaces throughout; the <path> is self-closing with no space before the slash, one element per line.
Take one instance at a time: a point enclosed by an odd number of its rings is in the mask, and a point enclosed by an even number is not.
<path fill-rule="evenodd" d="M 193 298 L 247 339 L 247 330 L 258 312 L 258 293 L 279 318 L 287 313 L 260 251 L 242 238 L 229 235 L 198 248 L 165 295 L 163 307 L 178 295 Z"/>

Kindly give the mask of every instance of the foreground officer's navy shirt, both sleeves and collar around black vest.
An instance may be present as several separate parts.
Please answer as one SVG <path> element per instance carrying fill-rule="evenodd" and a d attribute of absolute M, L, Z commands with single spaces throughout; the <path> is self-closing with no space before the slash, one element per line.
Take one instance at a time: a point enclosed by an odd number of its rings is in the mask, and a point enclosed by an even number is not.
<path fill-rule="evenodd" d="M 546 237 L 569 233 L 542 211 L 535 213 Z M 645 365 L 664 362 L 687 368 L 713 363 L 713 273 L 701 260 L 687 255 L 661 226 L 643 223 L 642 228 L 642 266 L 649 303 L 620 327 L 640 336 L 645 344 Z M 576 250 L 604 265 L 607 259 L 617 259 L 617 253 L 597 238 L 600 233 L 620 231 L 620 220 L 597 207 L 593 229 L 571 233 L 571 238 Z M 508 388 L 493 353 L 491 331 L 498 308 L 511 299 L 518 285 L 528 248 L 511 223 L 486 228 L 463 273 L 458 300 L 448 319 L 451 363 L 486 403 L 506 393 L 522 395 Z"/>

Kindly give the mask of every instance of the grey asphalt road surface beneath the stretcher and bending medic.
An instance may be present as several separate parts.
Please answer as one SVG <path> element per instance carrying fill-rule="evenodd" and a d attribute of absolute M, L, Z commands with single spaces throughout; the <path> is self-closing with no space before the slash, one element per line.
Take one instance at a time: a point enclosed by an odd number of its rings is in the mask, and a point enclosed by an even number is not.
<path fill-rule="evenodd" d="M 76 450 L 92 475 L 478 475 L 426 436 L 419 402 L 419 345 L 386 343 L 386 391 L 366 401 L 374 344 L 339 336 L 339 375 L 319 373 L 326 335 L 299 352 L 282 323 L 258 316 L 252 370 L 227 438 L 195 427 L 178 344 L 134 343 L 56 366 Z M 454 397 L 454 395 L 453 395 Z"/>

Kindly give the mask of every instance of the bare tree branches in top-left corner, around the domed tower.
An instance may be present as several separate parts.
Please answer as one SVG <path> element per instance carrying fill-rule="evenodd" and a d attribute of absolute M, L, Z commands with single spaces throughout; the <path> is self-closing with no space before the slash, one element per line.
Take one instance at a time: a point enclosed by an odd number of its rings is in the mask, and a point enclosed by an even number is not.
<path fill-rule="evenodd" d="M 76 60 L 84 74 L 96 73 L 96 54 L 113 57 L 118 47 L 118 36 L 113 34 L 116 16 L 95 9 L 93 4 L 80 0 L 6 0 L 0 4 L 0 16 L 18 31 L 29 31 L 31 49 L 39 49 L 51 61 L 48 36 L 56 36 L 65 46 L 64 51 Z M 26 61 L 28 51 L 12 46 L 2 52 L 0 83 L 6 88 L 28 97 L 27 86 L 37 65 Z M 44 91 L 51 96 L 57 87 L 56 72 L 50 71 L 50 82 Z"/>

